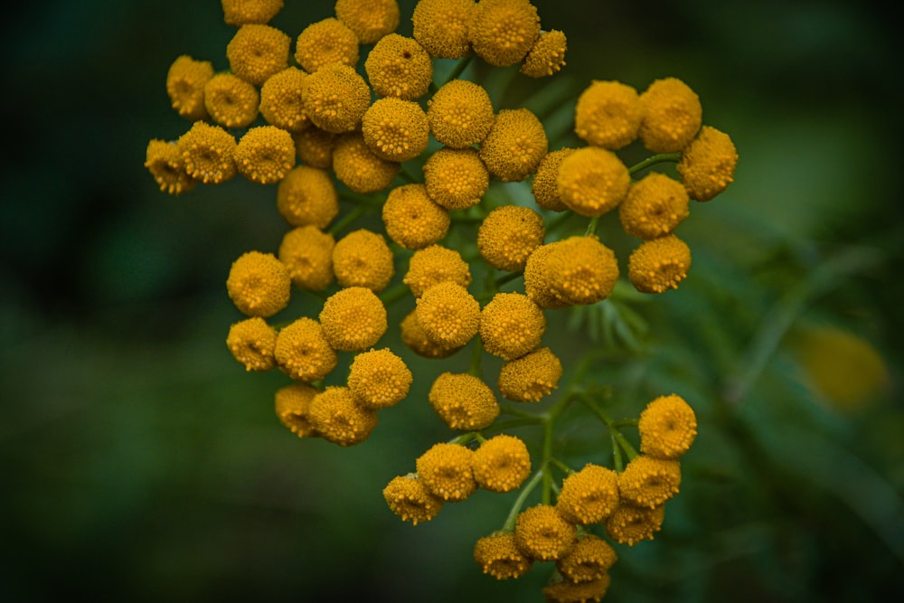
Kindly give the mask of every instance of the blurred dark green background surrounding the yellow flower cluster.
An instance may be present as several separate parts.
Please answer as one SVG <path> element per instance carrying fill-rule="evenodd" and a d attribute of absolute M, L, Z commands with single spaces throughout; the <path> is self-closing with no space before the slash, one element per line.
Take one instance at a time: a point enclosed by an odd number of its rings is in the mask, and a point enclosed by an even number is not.
<path fill-rule="evenodd" d="M 568 67 L 555 93 L 515 78 L 505 102 L 568 141 L 567 103 L 543 103 L 592 79 L 676 76 L 740 155 L 728 192 L 679 231 L 694 254 L 682 287 L 613 304 L 614 342 L 562 316 L 544 339 L 566 380 L 597 351 L 584 378 L 612 386 L 615 414 L 676 391 L 701 421 L 663 532 L 618 548 L 606 600 L 904 595 L 896 24 L 877 3 L 534 4 L 569 36 Z M 332 14 L 287 0 L 273 24 L 294 37 Z M 231 261 L 276 250 L 286 228 L 274 188 L 171 197 L 143 167 L 150 138 L 187 127 L 169 64 L 227 66 L 220 4 L 50 1 L 2 28 L 0 600 L 541 600 L 550 567 L 497 582 L 472 559 L 512 496 L 417 527 L 381 497 L 450 437 L 424 396 L 466 354 L 414 361 L 410 398 L 345 449 L 284 429 L 284 377 L 226 349 Z M 605 461 L 597 426 L 569 425 L 563 456 Z"/>

